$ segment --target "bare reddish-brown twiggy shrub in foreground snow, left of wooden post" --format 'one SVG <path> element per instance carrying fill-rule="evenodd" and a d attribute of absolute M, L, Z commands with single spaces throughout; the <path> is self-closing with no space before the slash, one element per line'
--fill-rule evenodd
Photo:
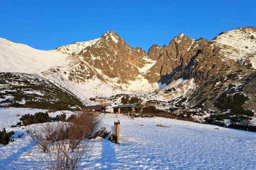
<path fill-rule="evenodd" d="M 49 153 L 48 169 L 75 170 L 86 167 L 95 142 L 91 140 L 89 145 L 88 137 L 101 120 L 102 116 L 79 112 L 70 122 L 44 123 L 26 129 L 32 140 Z"/>

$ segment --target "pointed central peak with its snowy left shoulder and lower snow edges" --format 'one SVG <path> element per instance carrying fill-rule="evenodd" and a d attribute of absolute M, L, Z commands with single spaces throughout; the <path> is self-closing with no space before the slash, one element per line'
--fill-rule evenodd
<path fill-rule="evenodd" d="M 115 84 L 118 88 L 129 88 L 136 82 L 146 82 L 142 74 L 154 63 L 147 58 L 141 47 L 134 49 L 114 31 L 108 31 L 98 39 L 74 42 L 55 50 L 72 55 L 80 63 L 78 69 L 82 72 L 78 69 L 72 71 L 70 80 L 84 83 L 85 79 L 92 79 L 95 76 L 103 82 Z M 85 67 L 88 66 L 91 69 L 86 70 L 87 74 L 84 77 L 81 73 L 84 73 Z M 98 74 L 95 74 L 95 70 Z M 146 82 L 145 85 L 149 83 Z M 154 89 L 157 89 L 157 85 Z"/>

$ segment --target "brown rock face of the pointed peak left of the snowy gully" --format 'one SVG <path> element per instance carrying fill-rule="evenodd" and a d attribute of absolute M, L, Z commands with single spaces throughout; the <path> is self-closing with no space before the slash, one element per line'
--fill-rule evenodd
<path fill-rule="evenodd" d="M 110 78 L 118 78 L 123 83 L 134 80 L 146 61 L 146 52 L 133 49 L 114 31 L 104 33 L 99 40 L 80 52 L 84 60 Z M 122 83 L 122 82 L 121 82 Z"/>

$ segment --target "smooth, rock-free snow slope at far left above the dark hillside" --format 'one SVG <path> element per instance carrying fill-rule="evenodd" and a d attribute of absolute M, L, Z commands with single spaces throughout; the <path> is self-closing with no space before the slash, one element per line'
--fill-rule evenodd
<path fill-rule="evenodd" d="M 51 67 L 67 65 L 67 57 L 68 55 L 60 52 L 37 50 L 25 44 L 0 38 L 0 72 L 40 74 Z"/>

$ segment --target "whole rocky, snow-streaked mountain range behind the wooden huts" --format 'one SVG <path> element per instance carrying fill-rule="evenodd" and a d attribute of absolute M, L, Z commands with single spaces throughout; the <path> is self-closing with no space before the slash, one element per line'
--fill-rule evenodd
<path fill-rule="evenodd" d="M 255 36 L 255 27 L 225 31 L 211 41 L 181 33 L 147 53 L 114 31 L 46 51 L 1 38 L 0 72 L 37 74 L 83 104 L 103 102 L 111 109 L 130 103 L 143 113 L 256 124 Z"/>

